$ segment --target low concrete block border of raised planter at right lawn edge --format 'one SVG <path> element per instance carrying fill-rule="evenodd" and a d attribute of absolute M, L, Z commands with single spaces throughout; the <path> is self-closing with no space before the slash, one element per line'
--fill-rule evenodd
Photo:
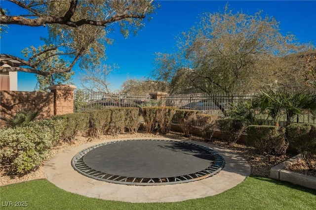
<path fill-rule="evenodd" d="M 297 184 L 311 189 L 316 189 L 315 177 L 285 170 L 286 166 L 297 163 L 299 159 L 301 159 L 301 154 L 298 154 L 271 168 L 270 178 L 275 180 L 288 181 L 293 184 Z"/>

